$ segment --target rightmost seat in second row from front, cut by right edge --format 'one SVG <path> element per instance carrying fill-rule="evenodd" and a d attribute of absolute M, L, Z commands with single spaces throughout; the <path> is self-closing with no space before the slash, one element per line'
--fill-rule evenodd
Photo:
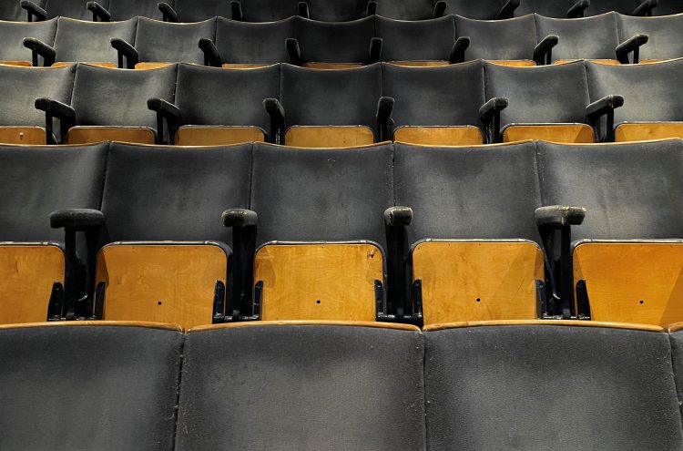
<path fill-rule="evenodd" d="M 683 315 L 681 142 L 538 143 L 538 168 L 551 219 L 562 220 L 561 209 L 553 209 L 554 205 L 586 209 L 583 224 L 565 228 L 561 255 L 550 257 L 573 255 L 573 277 L 569 265 L 562 277 L 565 287 L 576 289 L 578 315 L 622 323 L 679 322 Z M 571 248 L 569 237 L 575 240 Z"/>

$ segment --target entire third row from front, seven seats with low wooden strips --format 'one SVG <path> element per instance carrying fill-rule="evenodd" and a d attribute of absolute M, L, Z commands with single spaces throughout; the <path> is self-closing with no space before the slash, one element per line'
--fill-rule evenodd
<path fill-rule="evenodd" d="M 625 66 L 377 63 L 342 70 L 0 66 L 0 142 L 268 140 L 329 148 L 385 140 L 475 145 L 678 138 L 680 77 L 683 59 Z"/>

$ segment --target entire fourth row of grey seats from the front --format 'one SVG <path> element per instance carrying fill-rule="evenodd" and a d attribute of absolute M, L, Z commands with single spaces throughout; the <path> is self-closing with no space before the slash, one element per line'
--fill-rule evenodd
<path fill-rule="evenodd" d="M 158 67 L 183 62 L 259 67 L 289 62 L 319 68 L 387 61 L 436 66 L 474 59 L 534 66 L 573 59 L 612 64 L 683 56 L 683 15 L 608 13 L 563 20 L 525 15 L 483 21 L 448 15 L 420 22 L 372 16 L 325 23 L 301 17 L 250 24 L 209 19 L 172 24 L 144 17 L 93 23 L 60 17 L 40 23 L 0 22 L 0 61 L 22 66 L 97 63 Z"/>

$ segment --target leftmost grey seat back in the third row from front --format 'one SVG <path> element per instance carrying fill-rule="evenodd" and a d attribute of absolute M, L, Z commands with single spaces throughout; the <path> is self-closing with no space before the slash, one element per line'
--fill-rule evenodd
<path fill-rule="evenodd" d="M 36 98 L 50 97 L 68 104 L 75 72 L 76 65 L 45 69 L 0 66 L 0 126 L 45 127 L 45 113 L 34 106 Z"/>

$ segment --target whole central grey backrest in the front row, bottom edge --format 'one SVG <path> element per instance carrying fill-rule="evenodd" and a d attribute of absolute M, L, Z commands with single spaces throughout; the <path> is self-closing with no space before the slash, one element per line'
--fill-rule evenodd
<path fill-rule="evenodd" d="M 334 325 L 189 333 L 177 449 L 422 451 L 422 338 Z"/>

